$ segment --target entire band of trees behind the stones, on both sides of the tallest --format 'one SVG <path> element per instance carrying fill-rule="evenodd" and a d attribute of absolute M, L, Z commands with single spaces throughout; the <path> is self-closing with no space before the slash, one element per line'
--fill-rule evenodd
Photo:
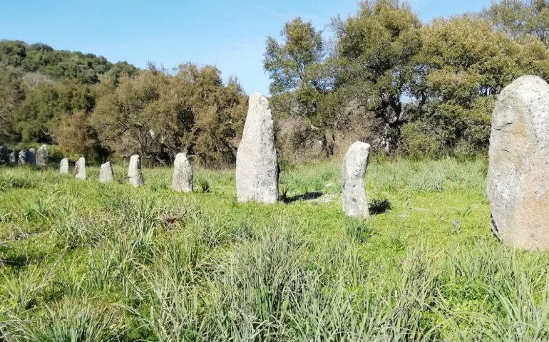
<path fill-rule="evenodd" d="M 524 74 L 549 80 L 549 0 L 427 24 L 404 1 L 371 0 L 329 31 L 297 18 L 267 38 L 282 159 L 339 155 L 356 140 L 388 154 L 477 155 L 496 95 Z M 246 107 L 237 80 L 214 66 L 140 70 L 0 41 L 0 143 L 55 143 L 96 160 L 139 153 L 150 164 L 185 151 L 231 165 Z"/>

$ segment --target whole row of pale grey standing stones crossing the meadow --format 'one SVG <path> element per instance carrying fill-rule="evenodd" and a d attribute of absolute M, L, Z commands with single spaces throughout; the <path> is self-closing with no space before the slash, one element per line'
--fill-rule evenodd
<path fill-rule="evenodd" d="M 349 217 L 369 217 L 364 176 L 370 146 L 354 142 L 342 165 L 342 206 Z M 519 249 L 549 249 L 549 85 L 537 76 L 522 76 L 503 89 L 492 115 L 487 194 L 493 234 Z M 16 158 L 16 156 L 18 158 Z M 0 162 L 48 163 L 46 145 L 18 152 L 0 146 Z M 61 160 L 62 174 L 68 159 Z M 86 179 L 86 160 L 75 165 L 77 178 Z M 279 167 L 275 125 L 270 103 L 260 93 L 250 95 L 242 140 L 237 150 L 238 202 L 277 202 Z M 101 165 L 100 182 L 112 182 L 111 162 Z M 139 155 L 130 157 L 128 182 L 144 184 Z M 193 191 L 193 170 L 183 153 L 175 157 L 172 187 Z"/>

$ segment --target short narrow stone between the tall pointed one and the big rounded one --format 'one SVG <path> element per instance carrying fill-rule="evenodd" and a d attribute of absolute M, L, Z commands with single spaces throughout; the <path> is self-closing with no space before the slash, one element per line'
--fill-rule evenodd
<path fill-rule="evenodd" d="M 370 145 L 357 141 L 349 147 L 343 160 L 342 204 L 343 211 L 350 217 L 370 216 L 364 187 L 369 153 Z"/>

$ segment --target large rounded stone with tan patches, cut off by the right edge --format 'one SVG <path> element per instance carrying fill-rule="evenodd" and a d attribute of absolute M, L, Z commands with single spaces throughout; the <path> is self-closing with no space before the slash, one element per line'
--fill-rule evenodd
<path fill-rule="evenodd" d="M 488 200 L 492 231 L 519 249 L 549 249 L 549 85 L 523 76 L 492 116 Z"/>

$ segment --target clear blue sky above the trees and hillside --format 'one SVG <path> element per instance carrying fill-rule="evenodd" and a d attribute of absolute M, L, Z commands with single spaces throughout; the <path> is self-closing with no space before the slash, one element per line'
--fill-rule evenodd
<path fill-rule="evenodd" d="M 326 28 L 337 14 L 358 9 L 356 0 L 4 0 L 0 39 L 46 43 L 96 53 L 110 61 L 165 68 L 188 61 L 214 64 L 224 78 L 237 76 L 250 93 L 268 93 L 262 69 L 267 36 L 279 37 L 295 16 Z M 422 21 L 478 11 L 491 0 L 410 0 Z"/>

